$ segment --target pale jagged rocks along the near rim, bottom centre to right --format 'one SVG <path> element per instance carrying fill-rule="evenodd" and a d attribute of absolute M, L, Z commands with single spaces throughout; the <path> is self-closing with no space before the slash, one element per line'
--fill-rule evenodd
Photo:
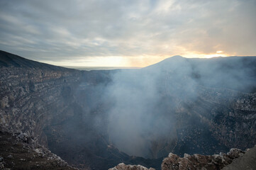
<path fill-rule="evenodd" d="M 162 162 L 162 170 L 239 170 L 239 169 L 256 169 L 256 146 L 252 149 L 242 151 L 241 149 L 232 148 L 227 154 L 184 154 L 184 157 L 179 157 L 177 154 L 169 153 Z M 148 169 L 141 165 L 126 165 L 118 164 L 117 166 L 108 170 L 155 170 Z"/>

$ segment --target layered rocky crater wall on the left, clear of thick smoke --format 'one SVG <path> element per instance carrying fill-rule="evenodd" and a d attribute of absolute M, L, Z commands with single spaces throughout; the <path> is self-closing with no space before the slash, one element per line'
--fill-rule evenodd
<path fill-rule="evenodd" d="M 47 145 L 43 128 L 74 115 L 70 106 L 81 79 L 77 70 L 1 52 L 1 125 L 34 135 Z"/>

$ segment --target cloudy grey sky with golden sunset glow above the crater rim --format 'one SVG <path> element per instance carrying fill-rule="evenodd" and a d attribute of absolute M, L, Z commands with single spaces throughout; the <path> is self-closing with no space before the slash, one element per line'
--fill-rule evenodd
<path fill-rule="evenodd" d="M 0 50 L 61 66 L 256 55 L 256 0 L 0 0 Z"/>

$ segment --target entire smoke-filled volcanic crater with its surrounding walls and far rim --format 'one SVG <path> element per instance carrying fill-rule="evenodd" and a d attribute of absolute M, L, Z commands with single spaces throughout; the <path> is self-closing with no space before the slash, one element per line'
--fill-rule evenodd
<path fill-rule="evenodd" d="M 160 169 L 169 152 L 256 143 L 255 57 L 175 57 L 145 69 L 83 72 L 0 55 L 0 124 L 72 166 Z"/>

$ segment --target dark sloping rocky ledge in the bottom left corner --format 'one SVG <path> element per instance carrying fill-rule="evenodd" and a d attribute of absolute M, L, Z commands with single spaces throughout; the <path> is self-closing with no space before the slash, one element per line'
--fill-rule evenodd
<path fill-rule="evenodd" d="M 0 128 L 0 146 L 0 169 L 75 169 L 26 133 Z"/>

